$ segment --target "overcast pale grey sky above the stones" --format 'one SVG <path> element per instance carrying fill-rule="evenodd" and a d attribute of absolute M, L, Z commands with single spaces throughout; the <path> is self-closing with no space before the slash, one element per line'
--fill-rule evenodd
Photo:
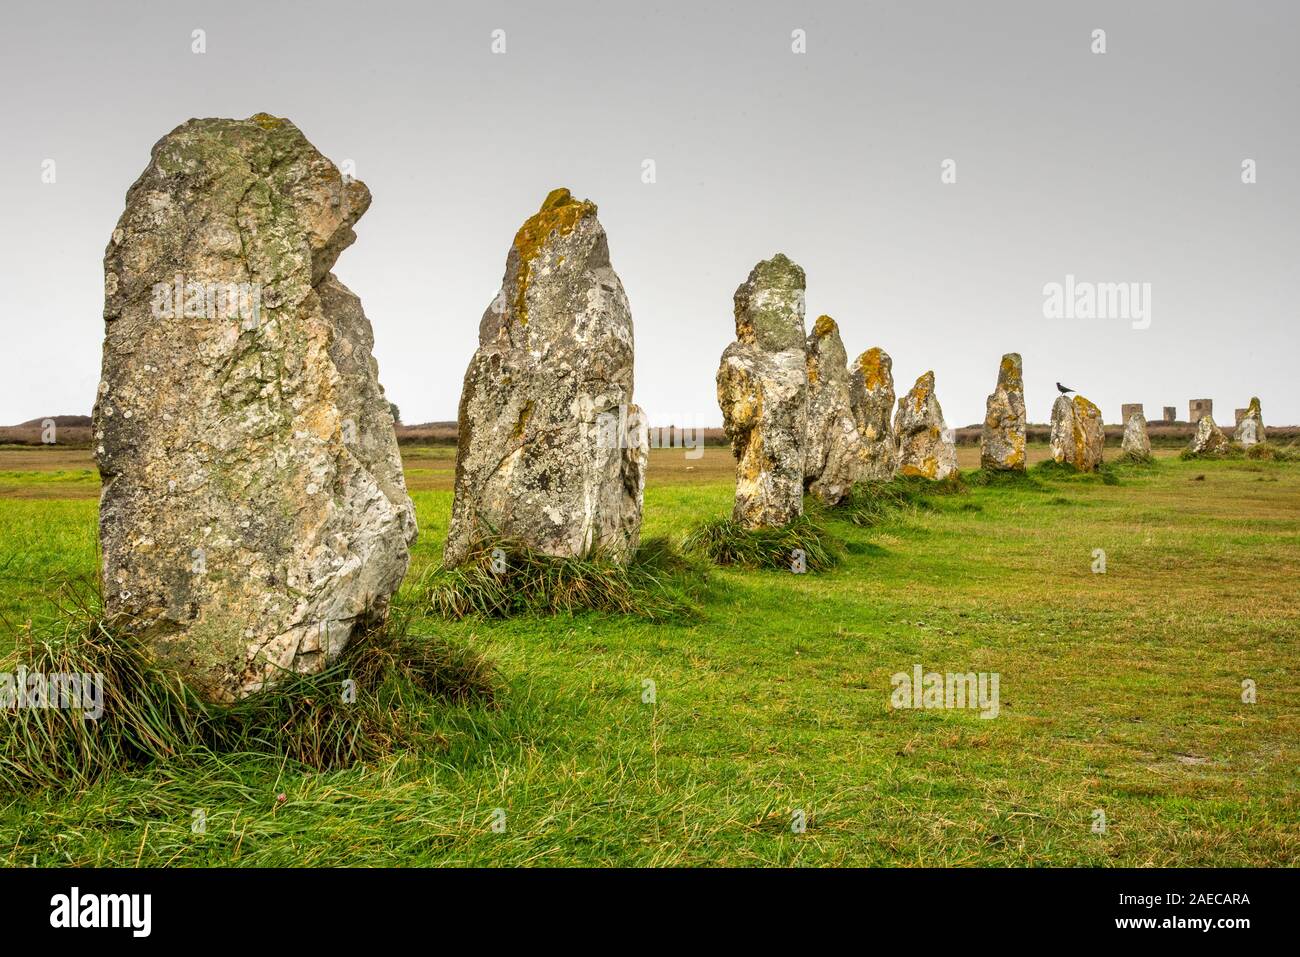
<path fill-rule="evenodd" d="M 777 251 L 807 272 L 810 325 L 833 316 L 850 356 L 885 348 L 900 394 L 933 369 L 950 425 L 983 419 L 1013 350 L 1032 421 L 1061 380 L 1109 423 L 1205 397 L 1231 424 L 1252 394 L 1300 423 L 1296 3 L 55 0 L 0 18 L 0 424 L 90 412 L 104 246 L 151 146 L 260 111 L 374 195 L 335 272 L 408 423 L 455 417 L 515 230 L 555 186 L 599 205 L 660 424 L 720 424 L 732 293 Z M 1067 274 L 1150 283 L 1149 328 L 1044 317 Z"/>

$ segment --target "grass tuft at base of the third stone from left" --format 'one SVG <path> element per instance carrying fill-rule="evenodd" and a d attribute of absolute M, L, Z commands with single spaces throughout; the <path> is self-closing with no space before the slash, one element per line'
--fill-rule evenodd
<path fill-rule="evenodd" d="M 803 568 L 820 572 L 833 568 L 844 555 L 844 544 L 807 515 L 780 528 L 745 528 L 731 519 L 715 519 L 696 527 L 682 542 L 688 553 L 737 568 L 793 570 L 797 553 Z"/>

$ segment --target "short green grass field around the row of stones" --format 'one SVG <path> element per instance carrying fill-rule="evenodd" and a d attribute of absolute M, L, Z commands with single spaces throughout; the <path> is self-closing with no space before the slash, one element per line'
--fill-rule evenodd
<path fill-rule="evenodd" d="M 98 486 L 75 456 L 5 455 L 0 616 L 39 631 L 60 583 L 95 577 Z M 450 450 L 407 464 L 413 583 L 441 553 Z M 0 793 L 0 862 L 1295 865 L 1300 465 L 1037 475 L 870 528 L 829 519 L 837 568 L 718 570 L 688 620 L 416 619 L 498 672 L 494 705 L 419 715 L 438 746 Z M 656 451 L 644 536 L 680 538 L 731 495 L 725 451 Z M 892 710 L 890 675 L 918 663 L 997 672 L 998 716 Z"/>

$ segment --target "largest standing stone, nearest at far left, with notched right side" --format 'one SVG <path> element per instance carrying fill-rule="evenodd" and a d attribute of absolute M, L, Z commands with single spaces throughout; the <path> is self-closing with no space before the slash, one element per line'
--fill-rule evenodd
<path fill-rule="evenodd" d="M 406 575 L 373 334 L 330 273 L 369 204 L 287 120 L 191 120 L 104 255 L 105 610 L 211 701 L 320 671 Z"/>

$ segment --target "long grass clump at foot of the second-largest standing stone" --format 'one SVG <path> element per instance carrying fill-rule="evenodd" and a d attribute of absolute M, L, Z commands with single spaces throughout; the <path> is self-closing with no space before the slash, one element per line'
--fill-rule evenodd
<path fill-rule="evenodd" d="M 558 558 L 498 540 L 480 542 L 459 566 L 428 571 L 410 601 L 450 620 L 603 611 L 663 622 L 694 612 L 705 576 L 667 540 L 645 542 L 628 563 Z"/>

